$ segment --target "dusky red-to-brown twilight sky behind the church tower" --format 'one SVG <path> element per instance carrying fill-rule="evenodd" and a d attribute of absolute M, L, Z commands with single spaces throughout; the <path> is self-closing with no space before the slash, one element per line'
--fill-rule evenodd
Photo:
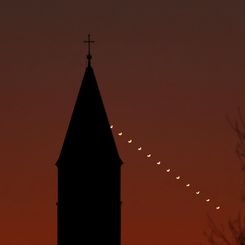
<path fill-rule="evenodd" d="M 3 2 L 0 244 L 56 244 L 54 164 L 89 32 L 108 117 L 125 131 L 123 245 L 199 244 L 207 213 L 218 224 L 234 217 L 242 175 L 225 116 L 245 114 L 244 11 L 238 0 Z"/>

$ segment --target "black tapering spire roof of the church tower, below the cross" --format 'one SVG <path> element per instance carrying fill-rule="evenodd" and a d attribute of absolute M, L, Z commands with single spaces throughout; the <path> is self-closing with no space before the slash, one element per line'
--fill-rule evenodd
<path fill-rule="evenodd" d="M 121 163 L 110 124 L 91 66 L 92 56 L 87 56 L 88 65 L 82 80 L 80 91 L 69 123 L 64 144 L 57 161 L 78 162 L 87 158 L 94 158 L 94 154 L 101 159 L 117 158 Z M 104 160 L 105 160 L 104 159 Z"/>

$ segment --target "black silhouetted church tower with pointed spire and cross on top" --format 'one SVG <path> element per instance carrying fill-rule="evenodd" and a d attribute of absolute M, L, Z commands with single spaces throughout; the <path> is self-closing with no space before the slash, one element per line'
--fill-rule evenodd
<path fill-rule="evenodd" d="M 120 167 L 100 91 L 88 66 L 58 167 L 58 245 L 120 245 Z"/>

